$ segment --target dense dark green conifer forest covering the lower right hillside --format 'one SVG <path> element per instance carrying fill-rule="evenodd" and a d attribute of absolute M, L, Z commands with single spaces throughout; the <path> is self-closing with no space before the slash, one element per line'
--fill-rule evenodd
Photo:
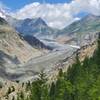
<path fill-rule="evenodd" d="M 19 93 L 17 100 L 100 100 L 100 40 L 93 57 L 83 62 L 76 56 L 76 63 L 63 73 L 50 86 L 46 84 L 45 73 L 32 84 L 27 83 L 26 91 L 30 95 Z"/>

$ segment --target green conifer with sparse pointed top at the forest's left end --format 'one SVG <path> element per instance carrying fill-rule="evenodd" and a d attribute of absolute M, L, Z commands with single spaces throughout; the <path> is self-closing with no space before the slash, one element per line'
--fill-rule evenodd
<path fill-rule="evenodd" d="M 42 71 L 39 74 L 39 78 L 32 83 L 30 100 L 49 100 L 49 93 L 46 82 L 46 75 Z"/>

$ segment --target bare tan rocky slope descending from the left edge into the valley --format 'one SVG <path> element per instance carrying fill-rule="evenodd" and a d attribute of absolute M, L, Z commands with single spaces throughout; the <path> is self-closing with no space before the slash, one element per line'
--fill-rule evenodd
<path fill-rule="evenodd" d="M 15 57 L 20 63 L 37 57 L 41 52 L 32 48 L 7 22 L 0 18 L 0 50 L 5 54 Z"/>

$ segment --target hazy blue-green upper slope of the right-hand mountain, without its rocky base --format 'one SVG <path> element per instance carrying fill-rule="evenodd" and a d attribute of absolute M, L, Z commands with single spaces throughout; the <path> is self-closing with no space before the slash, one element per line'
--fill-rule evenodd
<path fill-rule="evenodd" d="M 73 22 L 71 25 L 65 27 L 58 34 L 74 35 L 74 33 L 86 34 L 99 31 L 100 31 L 100 16 L 87 15 L 83 19 Z"/>

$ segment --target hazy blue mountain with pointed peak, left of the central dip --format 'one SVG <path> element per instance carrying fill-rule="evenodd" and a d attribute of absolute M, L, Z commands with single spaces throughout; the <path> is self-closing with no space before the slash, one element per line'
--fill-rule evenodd
<path fill-rule="evenodd" d="M 17 20 L 8 18 L 8 22 L 23 35 L 32 35 L 38 39 L 52 39 L 56 36 L 57 29 L 49 27 L 42 18 Z"/>

